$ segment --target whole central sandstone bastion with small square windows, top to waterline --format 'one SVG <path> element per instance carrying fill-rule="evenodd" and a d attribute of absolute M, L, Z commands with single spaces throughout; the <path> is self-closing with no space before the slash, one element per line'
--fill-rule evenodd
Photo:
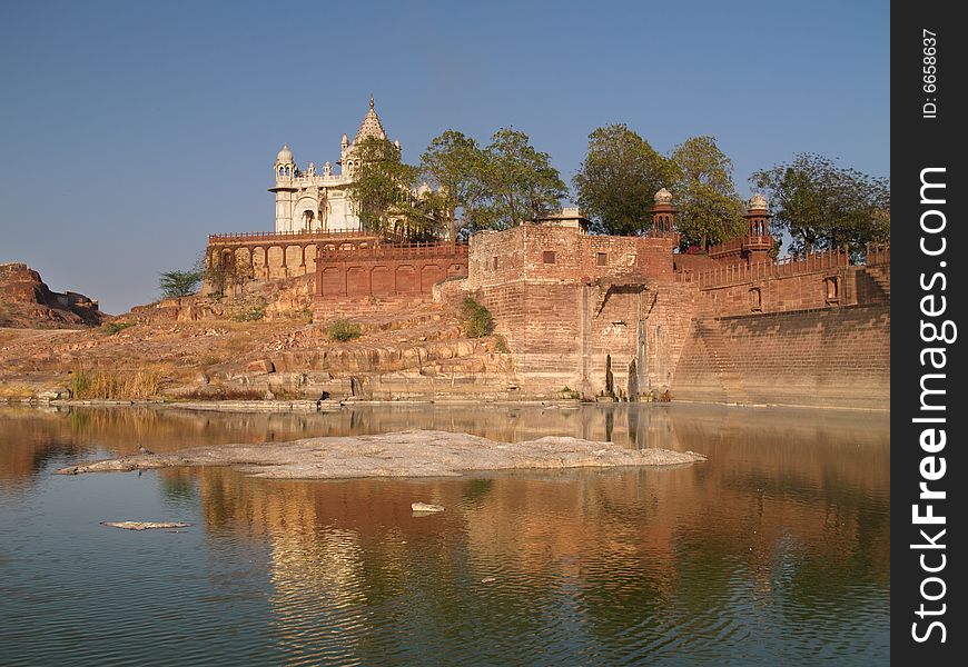
<path fill-rule="evenodd" d="M 525 394 L 624 396 L 669 386 L 693 289 L 672 281 L 674 233 L 590 236 L 522 225 L 471 239 L 464 289 L 494 315 Z M 660 289 L 660 286 L 665 286 Z"/>

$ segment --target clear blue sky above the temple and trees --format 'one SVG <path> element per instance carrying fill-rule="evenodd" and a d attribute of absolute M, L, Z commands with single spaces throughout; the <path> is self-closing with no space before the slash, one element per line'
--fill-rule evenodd
<path fill-rule="evenodd" d="M 274 228 L 276 152 L 339 157 L 369 94 L 404 159 L 523 130 L 571 181 L 596 127 L 713 135 L 749 175 L 888 176 L 888 2 L 6 2 L 0 262 L 108 312 L 209 232 Z"/>

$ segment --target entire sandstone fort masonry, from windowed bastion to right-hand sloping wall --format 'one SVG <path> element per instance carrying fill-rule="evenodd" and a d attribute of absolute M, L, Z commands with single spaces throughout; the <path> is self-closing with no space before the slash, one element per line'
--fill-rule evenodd
<path fill-rule="evenodd" d="M 527 395 L 887 407 L 888 249 L 861 266 L 833 250 L 676 272 L 676 240 L 658 225 L 477 233 L 468 278 L 437 292 L 492 311 Z"/>

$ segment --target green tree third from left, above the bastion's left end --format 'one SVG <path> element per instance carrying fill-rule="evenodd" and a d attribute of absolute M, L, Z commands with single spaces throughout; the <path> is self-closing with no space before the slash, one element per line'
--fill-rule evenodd
<path fill-rule="evenodd" d="M 556 209 L 567 187 L 551 157 L 531 146 L 527 135 L 502 128 L 494 132 L 481 165 L 482 202 L 476 228 L 507 229 Z"/>

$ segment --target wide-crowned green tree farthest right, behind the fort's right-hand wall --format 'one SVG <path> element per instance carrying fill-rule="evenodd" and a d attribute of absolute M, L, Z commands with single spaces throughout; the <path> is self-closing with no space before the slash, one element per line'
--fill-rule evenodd
<path fill-rule="evenodd" d="M 769 197 L 774 233 L 791 237 L 789 250 L 803 252 L 849 246 L 859 253 L 890 238 L 890 181 L 838 167 L 816 153 L 755 171 L 750 182 Z"/>

